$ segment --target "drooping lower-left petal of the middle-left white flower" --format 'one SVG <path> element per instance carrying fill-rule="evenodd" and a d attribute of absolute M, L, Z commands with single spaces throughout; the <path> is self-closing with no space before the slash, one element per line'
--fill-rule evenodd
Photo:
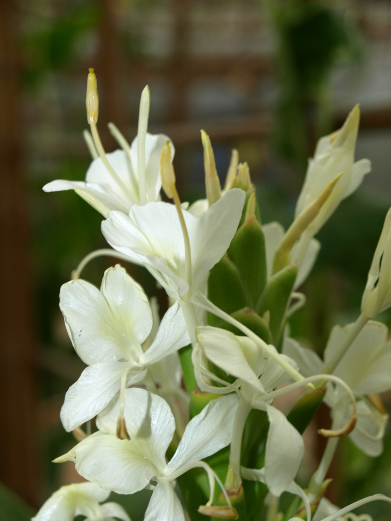
<path fill-rule="evenodd" d="M 129 362 L 103 362 L 86 367 L 80 378 L 65 394 L 60 418 L 66 431 L 76 429 L 85 421 L 103 411 L 119 392 L 120 378 Z M 146 369 L 133 367 L 127 377 L 127 385 L 141 381 Z"/>

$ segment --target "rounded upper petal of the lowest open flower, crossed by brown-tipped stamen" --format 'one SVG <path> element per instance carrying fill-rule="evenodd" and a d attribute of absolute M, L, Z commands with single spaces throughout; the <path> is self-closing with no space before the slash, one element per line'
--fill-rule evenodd
<path fill-rule="evenodd" d="M 118 414 L 117 400 L 97 417 L 97 427 L 114 434 Z M 130 441 L 140 445 L 144 455 L 157 469 L 164 469 L 165 453 L 175 431 L 174 416 L 168 404 L 160 396 L 151 394 L 145 389 L 126 389 L 124 416 Z"/>

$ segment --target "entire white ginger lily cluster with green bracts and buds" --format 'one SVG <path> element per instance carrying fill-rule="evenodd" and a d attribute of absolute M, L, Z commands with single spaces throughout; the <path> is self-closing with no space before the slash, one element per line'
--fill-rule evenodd
<path fill-rule="evenodd" d="M 185 521 L 199 516 L 197 510 L 222 519 L 251 521 L 264 511 L 270 520 L 304 515 L 310 521 L 317 505 L 314 519 L 332 521 L 347 519 L 368 501 L 391 501 L 377 494 L 341 510 L 321 501 L 340 436 L 349 435 L 367 454 L 382 451 L 388 416 L 378 393 L 391 389 L 391 344 L 387 328 L 373 319 L 391 305 L 390 213 L 362 314 L 354 324 L 333 328 L 324 359 L 289 338 L 286 327 L 305 302 L 296 289 L 319 251 L 314 235 L 370 171 L 368 160 L 354 162 L 358 107 L 317 145 L 287 231 L 276 222 L 261 225 L 248 166 L 238 163 L 236 151 L 221 189 L 203 131 L 206 199 L 181 203 L 174 146 L 165 135 L 147 133 L 148 87 L 132 144 L 110 126 L 122 150 L 105 154 L 98 112 L 90 70 L 91 134 L 85 137 L 93 162 L 85 182 L 57 180 L 44 187 L 74 189 L 97 209 L 114 249 L 86 257 L 60 290 L 69 338 L 87 367 L 60 414 L 79 443 L 55 462 L 73 461 L 88 481 L 60 488 L 33 519 L 129 521 L 121 506 L 100 503 L 109 491 L 142 489 L 153 491 L 144 521 Z M 161 188 L 173 204 L 161 200 Z M 84 265 L 101 254 L 151 272 L 172 304 L 161 320 L 156 302 L 119 264 L 106 270 L 100 289 L 80 279 Z M 306 392 L 285 416 L 273 399 L 298 387 Z M 304 491 L 294 481 L 304 453 L 301 435 L 323 399 L 333 426 L 321 429 L 326 450 Z M 82 426 L 91 420 L 96 429 L 87 435 Z M 262 487 L 268 491 L 264 502 Z M 254 490 L 261 499 L 254 499 Z M 296 498 L 282 514 L 284 492 Z M 205 504 L 194 506 L 199 497 Z"/>

